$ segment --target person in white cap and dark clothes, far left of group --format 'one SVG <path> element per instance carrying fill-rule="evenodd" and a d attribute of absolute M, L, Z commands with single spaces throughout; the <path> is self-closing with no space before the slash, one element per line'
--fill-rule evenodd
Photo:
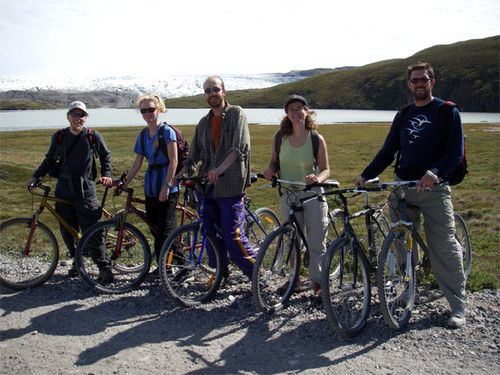
<path fill-rule="evenodd" d="M 99 132 L 84 127 L 88 118 L 85 103 L 81 101 L 70 103 L 66 117 L 69 127 L 54 133 L 45 159 L 27 181 L 27 186 L 47 173 L 56 177 L 55 196 L 70 203 L 56 203 L 56 211 L 71 226 L 85 231 L 102 215 L 95 190 L 94 179 L 97 177 L 95 176 L 97 171 L 94 158 L 97 157 L 100 160 L 100 182 L 109 186 L 112 183 L 110 151 Z M 56 164 L 59 168 L 57 172 L 54 172 Z M 60 230 L 69 255 L 74 258 L 74 238 L 62 226 Z M 96 254 L 92 254 L 92 257 L 99 267 L 102 280 L 111 282 L 113 274 L 110 263 L 106 259 L 104 247 L 96 250 Z M 78 276 L 74 263 L 68 276 Z"/>

